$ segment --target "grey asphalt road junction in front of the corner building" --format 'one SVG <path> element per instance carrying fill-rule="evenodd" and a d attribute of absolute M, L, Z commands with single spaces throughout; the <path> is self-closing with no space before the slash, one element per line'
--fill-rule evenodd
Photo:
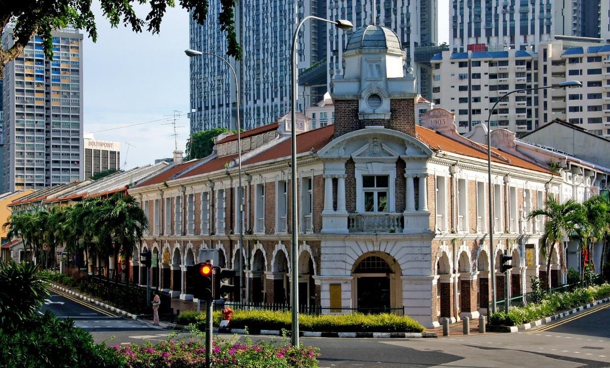
<path fill-rule="evenodd" d="M 63 303 L 63 304 L 62 304 Z M 438 339 L 332 339 L 303 337 L 320 348 L 320 367 L 610 367 L 610 304 L 587 310 L 538 330 L 472 334 Z M 98 306 L 53 293 L 45 309 L 70 317 L 96 342 L 160 342 L 172 331 L 124 319 Z M 188 337 L 178 333 L 174 339 Z M 225 339 L 243 336 L 220 334 Z M 251 336 L 253 341 L 281 337 Z"/>

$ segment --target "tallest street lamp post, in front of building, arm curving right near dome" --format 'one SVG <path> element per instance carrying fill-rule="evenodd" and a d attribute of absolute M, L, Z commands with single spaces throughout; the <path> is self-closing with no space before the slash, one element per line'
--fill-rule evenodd
<path fill-rule="evenodd" d="M 303 18 L 297 24 L 295 28 L 295 34 L 292 37 L 292 52 L 290 53 L 290 82 L 292 83 L 292 88 L 290 88 L 290 121 L 292 123 L 292 127 L 290 128 L 290 142 L 292 143 L 292 161 L 290 166 L 292 167 L 292 281 L 290 286 L 292 287 L 292 345 L 299 345 L 299 287 L 298 287 L 298 226 L 296 221 L 296 95 L 298 88 L 298 81 L 296 79 L 298 67 L 296 65 L 296 46 L 298 43 L 296 42 L 299 35 L 299 30 L 301 26 L 305 23 L 306 20 L 314 19 L 323 21 L 326 23 L 334 24 L 337 28 L 343 29 L 343 31 L 349 31 L 354 26 L 348 20 L 338 20 L 331 21 L 325 18 L 319 18 L 318 16 L 309 15 Z"/>

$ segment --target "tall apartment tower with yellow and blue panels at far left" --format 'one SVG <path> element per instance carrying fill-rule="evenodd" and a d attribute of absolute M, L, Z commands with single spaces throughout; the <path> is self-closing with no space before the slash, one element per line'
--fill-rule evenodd
<path fill-rule="evenodd" d="M 40 189 L 82 177 L 82 40 L 52 33 L 53 60 L 35 36 L 4 69 L 4 192 Z M 13 45 L 12 29 L 2 45 Z"/>

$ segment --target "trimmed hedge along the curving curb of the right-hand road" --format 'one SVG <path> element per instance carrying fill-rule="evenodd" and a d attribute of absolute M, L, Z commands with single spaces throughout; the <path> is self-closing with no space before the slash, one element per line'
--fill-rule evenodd
<path fill-rule="evenodd" d="M 511 307 L 508 313 L 495 312 L 489 316 L 489 324 L 495 326 L 519 326 L 524 323 L 553 316 L 558 312 L 600 300 L 610 295 L 610 284 L 589 286 L 572 292 L 545 295 L 542 303 L 529 303 L 525 307 Z"/>

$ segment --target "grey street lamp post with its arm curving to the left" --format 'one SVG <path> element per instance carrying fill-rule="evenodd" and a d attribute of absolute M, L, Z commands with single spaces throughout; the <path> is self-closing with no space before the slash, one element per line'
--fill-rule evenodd
<path fill-rule="evenodd" d="M 237 108 L 237 161 L 238 161 L 238 169 L 237 169 L 237 177 L 238 177 L 238 190 L 237 190 L 237 203 L 239 203 L 239 211 L 237 211 L 237 233 L 239 234 L 239 246 L 240 246 L 240 259 L 239 262 L 239 301 L 243 303 L 243 262 L 245 261 L 243 257 L 243 187 L 242 187 L 242 135 L 240 130 L 242 129 L 242 124 L 240 124 L 239 119 L 239 82 L 237 81 L 237 73 L 235 73 L 235 68 L 231 63 L 229 63 L 224 57 L 218 56 L 216 54 L 211 54 L 210 52 L 201 52 L 193 49 L 186 49 L 184 53 L 189 57 L 199 56 L 199 55 L 209 55 L 216 57 L 220 60 L 223 60 L 226 65 L 229 65 L 231 72 L 233 73 L 233 77 L 235 78 L 235 107 Z"/>

